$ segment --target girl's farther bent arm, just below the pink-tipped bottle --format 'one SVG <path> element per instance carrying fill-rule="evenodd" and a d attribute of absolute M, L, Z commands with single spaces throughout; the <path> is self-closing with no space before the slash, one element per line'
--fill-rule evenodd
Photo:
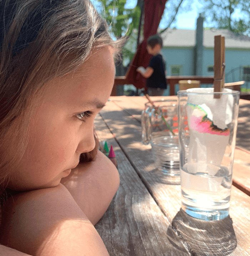
<path fill-rule="evenodd" d="M 96 224 L 109 207 L 120 178 L 109 158 L 97 151 L 95 161 L 80 163 L 61 183 L 91 223 Z"/>

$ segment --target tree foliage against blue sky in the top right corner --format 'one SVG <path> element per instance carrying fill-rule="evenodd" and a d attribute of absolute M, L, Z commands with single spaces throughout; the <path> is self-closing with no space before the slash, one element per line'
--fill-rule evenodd
<path fill-rule="evenodd" d="M 200 11 L 214 28 L 250 36 L 249 0 L 202 0 Z M 238 16 L 238 17 L 237 17 Z"/>

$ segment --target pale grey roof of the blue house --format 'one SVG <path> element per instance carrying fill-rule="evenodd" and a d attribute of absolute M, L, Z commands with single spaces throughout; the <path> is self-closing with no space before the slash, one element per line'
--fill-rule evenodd
<path fill-rule="evenodd" d="M 214 36 L 225 37 L 225 48 L 249 48 L 250 37 L 241 34 L 234 34 L 228 29 L 204 29 L 203 46 L 214 47 Z M 194 47 L 196 30 L 188 29 L 167 29 L 161 34 L 163 47 Z"/>

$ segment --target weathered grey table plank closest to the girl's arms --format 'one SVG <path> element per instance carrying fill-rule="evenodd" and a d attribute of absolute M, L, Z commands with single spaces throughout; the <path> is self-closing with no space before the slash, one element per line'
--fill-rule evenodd
<path fill-rule="evenodd" d="M 112 144 L 120 174 L 120 187 L 95 226 L 110 256 L 189 255 L 100 116 L 95 129 Z"/>

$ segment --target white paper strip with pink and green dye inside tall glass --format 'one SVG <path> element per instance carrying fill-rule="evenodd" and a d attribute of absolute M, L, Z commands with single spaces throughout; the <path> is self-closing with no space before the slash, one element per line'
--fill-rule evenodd
<path fill-rule="evenodd" d="M 188 172 L 192 174 L 205 172 L 215 176 L 220 169 L 229 142 L 228 124 L 232 121 L 233 95 L 222 94 L 221 98 L 215 99 L 213 91 L 214 88 L 187 90 L 189 93 L 211 93 L 189 94 L 187 98 L 190 134 L 187 166 Z M 230 92 L 231 90 L 224 89 L 223 91 Z M 217 183 L 209 180 L 206 186 L 209 186 L 212 191 L 217 191 L 220 182 Z"/>

